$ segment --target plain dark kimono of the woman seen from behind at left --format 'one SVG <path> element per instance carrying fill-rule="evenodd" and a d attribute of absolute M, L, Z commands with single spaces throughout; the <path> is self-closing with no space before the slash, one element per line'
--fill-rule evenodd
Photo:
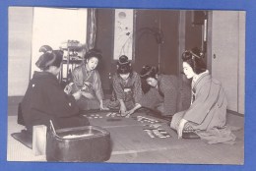
<path fill-rule="evenodd" d="M 49 127 L 52 120 L 56 129 L 89 125 L 87 118 L 79 116 L 79 108 L 72 95 L 67 95 L 57 78 L 48 72 L 34 72 L 21 103 L 25 126 Z"/>

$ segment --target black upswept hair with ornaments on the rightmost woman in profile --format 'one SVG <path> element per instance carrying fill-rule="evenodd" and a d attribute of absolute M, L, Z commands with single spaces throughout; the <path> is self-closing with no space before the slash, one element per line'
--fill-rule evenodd
<path fill-rule="evenodd" d="M 182 53 L 183 62 L 188 63 L 196 74 L 203 73 L 207 70 L 203 58 L 204 54 L 198 47 L 194 47 Z"/>

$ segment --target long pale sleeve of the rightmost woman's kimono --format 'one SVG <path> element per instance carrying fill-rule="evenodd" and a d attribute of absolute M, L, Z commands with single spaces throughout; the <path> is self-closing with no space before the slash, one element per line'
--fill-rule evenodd
<path fill-rule="evenodd" d="M 219 90 L 219 86 L 214 86 L 211 82 L 202 85 L 196 93 L 194 102 L 186 111 L 184 119 L 201 124 L 217 101 Z"/>

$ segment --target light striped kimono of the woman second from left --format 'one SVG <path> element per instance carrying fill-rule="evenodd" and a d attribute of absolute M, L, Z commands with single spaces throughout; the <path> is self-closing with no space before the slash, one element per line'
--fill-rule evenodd
<path fill-rule="evenodd" d="M 103 90 L 98 72 L 96 70 L 90 72 L 87 71 L 85 64 L 83 63 L 73 70 L 72 81 L 74 82 L 72 92 L 76 92 L 82 87 L 86 87 L 83 90 L 90 92 L 95 97 L 93 99 L 88 99 L 82 95 L 77 101 L 79 108 L 81 110 L 99 109 L 99 101 L 103 99 Z"/>

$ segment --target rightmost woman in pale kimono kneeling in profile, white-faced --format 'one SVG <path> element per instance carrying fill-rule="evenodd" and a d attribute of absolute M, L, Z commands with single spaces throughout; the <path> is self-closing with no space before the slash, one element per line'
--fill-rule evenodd
<path fill-rule="evenodd" d="M 183 71 L 192 79 L 192 98 L 188 110 L 176 113 L 170 127 L 182 133 L 193 132 L 210 142 L 234 141 L 235 137 L 225 129 L 227 101 L 222 84 L 206 70 L 200 49 L 193 48 L 182 54 Z"/>

